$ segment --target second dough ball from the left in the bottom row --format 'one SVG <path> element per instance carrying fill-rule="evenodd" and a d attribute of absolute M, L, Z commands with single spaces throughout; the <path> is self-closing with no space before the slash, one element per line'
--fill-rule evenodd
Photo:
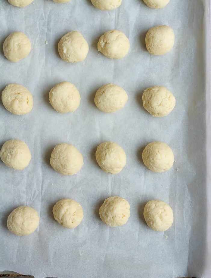
<path fill-rule="evenodd" d="M 83 219 L 82 206 L 71 199 L 59 200 L 53 208 L 54 218 L 66 228 L 77 227 Z"/>

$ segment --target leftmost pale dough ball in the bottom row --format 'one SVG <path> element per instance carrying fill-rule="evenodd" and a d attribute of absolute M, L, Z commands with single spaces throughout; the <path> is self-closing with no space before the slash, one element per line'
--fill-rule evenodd
<path fill-rule="evenodd" d="M 15 208 L 7 218 L 8 229 L 17 236 L 33 233 L 39 225 L 37 211 L 26 205 Z"/>

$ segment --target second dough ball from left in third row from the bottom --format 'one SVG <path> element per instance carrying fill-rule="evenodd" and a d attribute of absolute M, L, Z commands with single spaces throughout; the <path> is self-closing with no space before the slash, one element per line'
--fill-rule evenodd
<path fill-rule="evenodd" d="M 81 97 L 78 89 L 70 82 L 61 82 L 49 93 L 51 105 L 57 112 L 74 112 L 80 104 Z"/>

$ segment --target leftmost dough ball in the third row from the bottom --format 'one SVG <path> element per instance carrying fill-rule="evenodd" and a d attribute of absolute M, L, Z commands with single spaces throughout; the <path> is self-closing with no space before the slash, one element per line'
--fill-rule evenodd
<path fill-rule="evenodd" d="M 4 107 L 15 115 L 29 113 L 33 108 L 33 96 L 24 86 L 10 84 L 2 92 Z"/>

